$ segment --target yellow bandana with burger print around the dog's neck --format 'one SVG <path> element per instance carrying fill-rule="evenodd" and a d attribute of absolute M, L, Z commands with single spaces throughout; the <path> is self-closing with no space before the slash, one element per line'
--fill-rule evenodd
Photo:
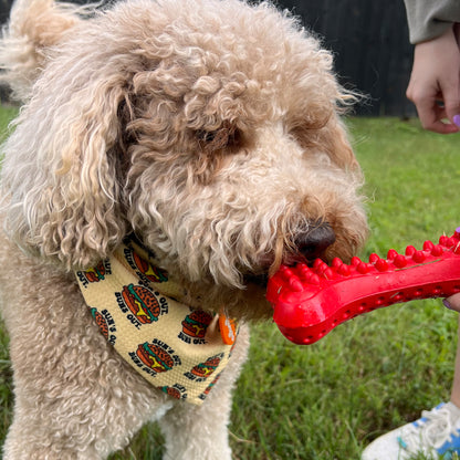
<path fill-rule="evenodd" d="M 75 274 L 101 332 L 123 358 L 168 395 L 201 404 L 231 356 L 234 324 L 175 300 L 180 286 L 134 239 Z"/>

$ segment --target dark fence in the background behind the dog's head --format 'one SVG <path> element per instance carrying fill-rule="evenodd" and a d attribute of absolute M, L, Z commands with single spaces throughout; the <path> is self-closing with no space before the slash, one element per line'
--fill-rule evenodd
<path fill-rule="evenodd" d="M 85 0 L 73 0 L 84 3 Z M 276 1 L 276 0 L 274 0 Z M 341 82 L 367 95 L 358 115 L 410 116 L 405 96 L 412 46 L 402 0 L 278 0 L 302 17 L 305 27 L 323 38 L 335 54 Z M 0 0 L 4 22 L 11 0 Z"/>

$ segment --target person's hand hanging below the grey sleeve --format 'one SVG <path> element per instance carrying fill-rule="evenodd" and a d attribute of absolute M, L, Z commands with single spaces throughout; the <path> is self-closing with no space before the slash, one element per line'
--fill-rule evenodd
<path fill-rule="evenodd" d="M 416 45 L 406 95 L 416 105 L 425 129 L 460 130 L 460 50 L 453 27 Z"/>

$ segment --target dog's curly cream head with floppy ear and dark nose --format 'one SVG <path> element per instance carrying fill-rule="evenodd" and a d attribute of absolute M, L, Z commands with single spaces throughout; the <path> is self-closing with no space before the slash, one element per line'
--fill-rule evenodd
<path fill-rule="evenodd" d="M 133 0 L 48 53 L 2 170 L 8 231 L 32 253 L 85 268 L 135 231 L 170 273 L 234 295 L 363 243 L 349 95 L 288 14 Z"/>

